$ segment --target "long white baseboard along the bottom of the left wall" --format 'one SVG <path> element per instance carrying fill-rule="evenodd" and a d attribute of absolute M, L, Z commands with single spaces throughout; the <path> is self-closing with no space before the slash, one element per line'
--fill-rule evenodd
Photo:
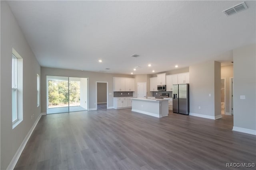
<path fill-rule="evenodd" d="M 13 170 L 14 167 L 16 166 L 19 158 L 20 158 L 20 155 L 22 154 L 22 151 L 23 149 L 25 148 L 27 142 L 28 142 L 28 139 L 30 138 L 32 132 L 34 131 L 38 121 L 40 120 L 42 116 L 42 113 L 38 116 L 38 118 L 36 119 L 34 125 L 31 127 L 30 131 L 28 132 L 28 134 L 26 135 L 26 137 L 24 138 L 24 140 L 22 141 L 20 147 L 18 148 L 17 152 L 15 153 L 15 155 L 13 156 L 10 164 L 8 165 L 8 167 L 6 168 L 7 170 Z"/>

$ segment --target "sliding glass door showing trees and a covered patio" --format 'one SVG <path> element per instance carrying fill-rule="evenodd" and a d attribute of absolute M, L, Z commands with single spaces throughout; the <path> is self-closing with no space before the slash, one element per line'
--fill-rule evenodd
<path fill-rule="evenodd" d="M 47 114 L 88 109 L 88 79 L 47 76 Z"/>

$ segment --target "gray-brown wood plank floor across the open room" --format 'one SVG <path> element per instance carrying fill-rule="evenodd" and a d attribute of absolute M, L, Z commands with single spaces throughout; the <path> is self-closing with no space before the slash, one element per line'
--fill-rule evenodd
<path fill-rule="evenodd" d="M 156 118 L 99 107 L 45 115 L 15 169 L 209 170 L 256 163 L 256 137 L 232 131 L 232 122 L 228 115 L 211 120 L 170 112 Z"/>

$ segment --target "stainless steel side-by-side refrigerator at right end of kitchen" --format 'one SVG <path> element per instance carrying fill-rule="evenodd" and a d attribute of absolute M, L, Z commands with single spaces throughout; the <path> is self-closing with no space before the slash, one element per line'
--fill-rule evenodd
<path fill-rule="evenodd" d="M 189 84 L 174 84 L 172 90 L 173 113 L 189 114 Z"/>

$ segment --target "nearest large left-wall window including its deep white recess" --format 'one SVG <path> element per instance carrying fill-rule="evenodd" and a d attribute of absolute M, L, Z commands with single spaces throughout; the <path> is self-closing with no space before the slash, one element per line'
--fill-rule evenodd
<path fill-rule="evenodd" d="M 23 59 L 12 49 L 12 129 L 23 120 Z"/>

